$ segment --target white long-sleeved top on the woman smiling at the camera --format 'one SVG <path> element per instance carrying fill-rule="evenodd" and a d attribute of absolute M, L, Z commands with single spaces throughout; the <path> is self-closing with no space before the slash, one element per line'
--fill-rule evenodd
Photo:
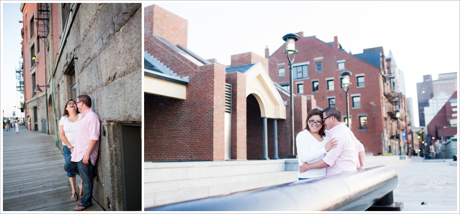
<path fill-rule="evenodd" d="M 328 130 L 326 130 L 326 136 L 323 137 L 322 142 L 316 140 L 307 129 L 299 132 L 295 138 L 299 166 L 304 162 L 314 163 L 323 159 L 326 155 L 324 146 L 328 141 Z M 326 168 L 309 169 L 303 173 L 298 172 L 298 178 L 317 178 L 322 176 L 326 176 Z"/>

